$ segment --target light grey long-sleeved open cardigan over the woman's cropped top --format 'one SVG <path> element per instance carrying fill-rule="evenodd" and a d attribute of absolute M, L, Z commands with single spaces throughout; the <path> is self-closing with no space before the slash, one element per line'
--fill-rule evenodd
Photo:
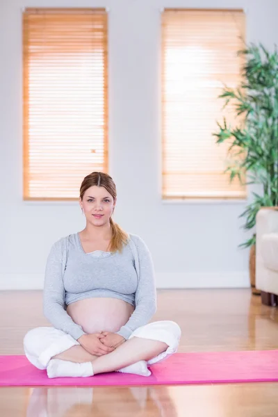
<path fill-rule="evenodd" d="M 129 234 L 129 247 L 134 257 L 138 289 L 135 293 L 135 310 L 126 325 L 117 332 L 128 339 L 134 330 L 146 325 L 156 312 L 156 287 L 154 281 L 154 265 L 145 242 L 137 235 Z M 76 340 L 85 332 L 65 311 L 65 287 L 63 276 L 67 265 L 69 236 L 60 238 L 51 247 L 47 258 L 44 277 L 44 316 L 56 329 L 70 334 Z"/>

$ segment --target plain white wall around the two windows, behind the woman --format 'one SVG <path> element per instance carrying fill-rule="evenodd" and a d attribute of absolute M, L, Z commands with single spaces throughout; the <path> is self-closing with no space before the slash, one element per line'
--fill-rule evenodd
<path fill-rule="evenodd" d="M 115 220 L 152 251 L 158 288 L 244 287 L 244 202 L 160 197 L 160 10 L 245 8 L 247 39 L 277 40 L 275 0 L 1 0 L 0 289 L 42 288 L 50 246 L 84 227 L 78 203 L 22 201 L 22 8 L 109 8 L 110 171 Z"/>

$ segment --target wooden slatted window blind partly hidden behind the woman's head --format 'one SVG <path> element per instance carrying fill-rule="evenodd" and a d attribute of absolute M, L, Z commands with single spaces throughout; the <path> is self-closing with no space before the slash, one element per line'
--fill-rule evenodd
<path fill-rule="evenodd" d="M 104 9 L 24 10 L 24 199 L 78 199 L 108 172 L 107 36 Z"/>

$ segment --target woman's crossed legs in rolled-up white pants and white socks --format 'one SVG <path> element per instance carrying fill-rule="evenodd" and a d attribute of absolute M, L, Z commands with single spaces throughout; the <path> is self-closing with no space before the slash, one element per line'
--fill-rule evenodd
<path fill-rule="evenodd" d="M 72 336 L 51 327 L 39 327 L 26 334 L 24 350 L 33 365 L 47 369 L 49 377 L 86 377 L 112 371 L 148 376 L 151 373 L 147 365 L 177 352 L 180 336 L 177 323 L 152 322 L 136 329 L 113 352 L 97 357 Z"/>

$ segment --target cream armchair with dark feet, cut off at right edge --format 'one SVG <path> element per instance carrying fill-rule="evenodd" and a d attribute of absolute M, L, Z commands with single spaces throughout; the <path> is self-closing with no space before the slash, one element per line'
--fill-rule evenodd
<path fill-rule="evenodd" d="M 261 208 L 256 215 L 256 288 L 263 304 L 277 305 L 278 208 Z"/>

